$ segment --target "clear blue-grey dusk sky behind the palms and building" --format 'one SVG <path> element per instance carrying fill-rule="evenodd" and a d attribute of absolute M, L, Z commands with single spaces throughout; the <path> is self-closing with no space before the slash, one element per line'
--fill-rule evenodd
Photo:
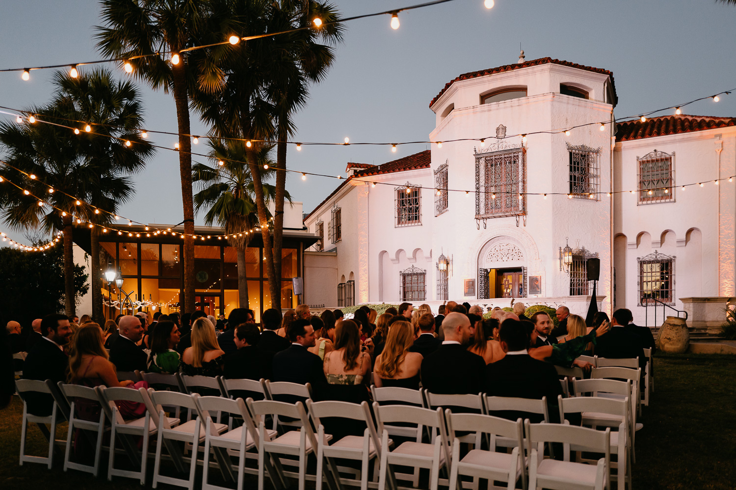
<path fill-rule="evenodd" d="M 334 3 L 347 17 L 415 1 Z M 482 0 L 458 0 L 400 13 L 399 18 L 401 27 L 395 31 L 388 15 L 346 25 L 333 69 L 324 83 L 311 88 L 308 106 L 295 119 L 299 132 L 294 141 L 342 142 L 345 136 L 352 142 L 426 140 L 434 129 L 428 105 L 445 83 L 467 71 L 516 62 L 519 43 L 527 60 L 549 56 L 613 71 L 619 119 L 736 88 L 736 6 L 713 0 L 496 0 L 492 10 L 486 10 Z M 97 1 L 5 0 L 0 69 L 97 60 L 97 24 Z M 128 76 L 112 63 L 107 66 L 118 77 Z M 32 71 L 31 80 L 24 82 L 19 72 L 0 73 L 0 105 L 25 108 L 48 102 L 52 74 Z M 143 82 L 138 85 L 144 94 L 146 128 L 176 132 L 171 95 L 154 92 Z M 718 103 L 689 105 L 683 113 L 736 116 L 736 92 Z M 192 131 L 207 133 L 194 112 Z M 173 149 L 176 138 L 158 135 L 152 141 Z M 289 147 L 287 165 L 344 175 L 348 161 L 381 164 L 427 147 L 406 145 L 397 153 L 390 147 L 319 146 L 301 152 Z M 206 153 L 202 141 L 194 149 Z M 135 181 L 135 198 L 121 207 L 121 215 L 142 223 L 183 219 L 174 151 L 159 150 Z M 338 184 L 333 178 L 302 181 L 292 174 L 286 186 L 309 212 Z M 202 223 L 202 214 L 197 223 Z M 27 241 L 24 231 L 10 230 L 1 222 L 0 229 Z"/>

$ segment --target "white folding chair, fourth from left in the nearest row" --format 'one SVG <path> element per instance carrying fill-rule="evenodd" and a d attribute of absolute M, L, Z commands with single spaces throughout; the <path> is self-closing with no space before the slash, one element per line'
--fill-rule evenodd
<path fill-rule="evenodd" d="M 191 395 L 187 393 L 177 393 L 176 391 L 154 391 L 153 388 L 148 390 L 149 397 L 152 404 L 158 410 L 158 444 L 156 445 L 156 458 L 153 467 L 153 488 L 158 486 L 158 483 L 169 483 L 169 485 L 183 486 L 191 489 L 194 486 L 194 475 L 197 472 L 197 458 L 199 457 L 199 444 L 205 441 L 205 427 L 202 426 L 203 421 L 198 416 L 194 420 L 185 422 L 184 424 L 171 425 L 166 419 L 166 413 L 163 412 L 163 406 L 179 406 L 186 408 L 191 414 L 198 414 L 197 404 L 195 398 L 199 396 L 197 393 Z M 214 424 L 213 429 L 216 433 L 222 433 L 227 429 L 225 424 Z M 176 443 L 166 444 L 166 441 L 180 441 L 183 443 L 191 444 L 191 456 L 185 458 L 182 452 L 176 447 Z M 161 466 L 161 453 L 163 446 L 166 445 L 166 449 L 169 451 L 169 456 L 174 461 L 179 460 L 180 466 L 183 466 L 183 462 L 189 459 L 189 478 L 183 480 L 182 478 L 168 477 L 160 474 Z M 177 465 L 179 466 L 179 465 Z M 229 470 L 228 466 L 228 470 Z"/>

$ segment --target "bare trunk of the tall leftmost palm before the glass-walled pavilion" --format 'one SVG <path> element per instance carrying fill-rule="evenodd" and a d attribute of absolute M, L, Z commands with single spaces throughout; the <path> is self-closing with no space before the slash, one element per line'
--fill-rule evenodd
<path fill-rule="evenodd" d="M 186 88 L 185 66 L 182 60 L 171 68 L 174 85 L 174 102 L 177 106 L 177 124 L 180 135 L 187 135 L 189 127 L 189 100 Z M 184 298 L 182 312 L 194 312 L 194 200 L 191 189 L 191 141 L 189 136 L 179 136 L 179 173 L 182 182 L 184 212 Z"/>

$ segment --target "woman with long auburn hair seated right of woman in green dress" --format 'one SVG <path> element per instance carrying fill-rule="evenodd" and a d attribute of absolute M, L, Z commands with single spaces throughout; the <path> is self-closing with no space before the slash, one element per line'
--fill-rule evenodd
<path fill-rule="evenodd" d="M 224 354 L 217 343 L 215 326 L 207 318 L 197 318 L 191 326 L 191 347 L 182 354 L 179 371 L 185 376 L 219 376 Z"/>

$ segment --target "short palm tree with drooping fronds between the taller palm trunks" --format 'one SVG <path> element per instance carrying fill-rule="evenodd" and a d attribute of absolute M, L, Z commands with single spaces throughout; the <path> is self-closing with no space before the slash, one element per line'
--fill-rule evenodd
<path fill-rule="evenodd" d="M 208 209 L 205 224 L 219 223 L 230 235 L 227 241 L 235 247 L 238 255 L 238 300 L 241 308 L 248 308 L 248 281 L 246 280 L 245 250 L 250 241 L 246 230 L 258 223 L 256 206 L 253 202 L 253 181 L 250 169 L 243 163 L 247 159 L 246 147 L 241 141 L 229 144 L 210 143 L 210 155 L 223 162 L 216 168 L 206 164 L 194 164 L 192 180 L 202 188 L 194 195 L 194 206 L 199 212 Z M 269 158 L 269 147 L 261 147 L 258 165 L 273 165 Z M 273 172 L 273 171 L 272 171 Z M 269 199 L 273 199 L 273 186 L 264 186 Z"/>

